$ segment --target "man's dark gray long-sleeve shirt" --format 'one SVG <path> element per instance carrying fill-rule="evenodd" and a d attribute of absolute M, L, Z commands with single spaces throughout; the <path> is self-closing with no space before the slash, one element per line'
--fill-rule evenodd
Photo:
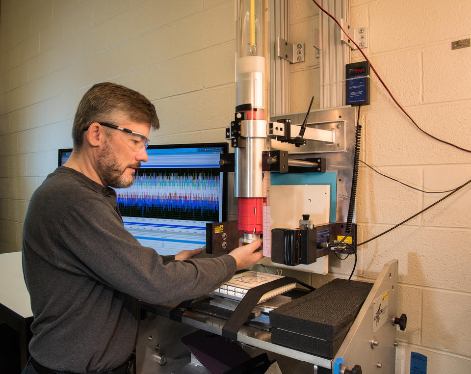
<path fill-rule="evenodd" d="M 34 192 L 24 224 L 30 353 L 57 371 L 116 367 L 136 344 L 138 299 L 206 294 L 235 267 L 229 255 L 174 261 L 143 247 L 124 228 L 114 190 L 62 166 Z"/>

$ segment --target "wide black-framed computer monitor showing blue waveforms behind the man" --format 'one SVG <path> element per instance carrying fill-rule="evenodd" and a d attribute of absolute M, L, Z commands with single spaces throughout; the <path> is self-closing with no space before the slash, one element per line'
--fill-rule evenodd
<path fill-rule="evenodd" d="M 62 153 L 61 153 L 62 151 Z M 59 150 L 59 165 L 67 160 Z M 134 184 L 115 188 L 124 226 L 160 255 L 206 244 L 206 223 L 227 220 L 227 143 L 150 145 Z"/>

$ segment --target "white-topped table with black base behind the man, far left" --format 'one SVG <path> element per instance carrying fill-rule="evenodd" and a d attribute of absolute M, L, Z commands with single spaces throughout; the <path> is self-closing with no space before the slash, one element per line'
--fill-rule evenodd
<path fill-rule="evenodd" d="M 33 312 L 21 265 L 21 252 L 0 253 L 0 320 L 20 334 L 21 367 L 29 357 Z"/>

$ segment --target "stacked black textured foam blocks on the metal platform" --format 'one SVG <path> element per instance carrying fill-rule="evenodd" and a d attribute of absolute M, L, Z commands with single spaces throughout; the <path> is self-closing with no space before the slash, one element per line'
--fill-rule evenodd
<path fill-rule="evenodd" d="M 333 351 L 336 346 L 340 347 L 372 287 L 372 283 L 334 279 L 317 290 L 280 306 L 270 312 L 270 326 L 278 329 L 272 332 L 272 342 L 321 354 L 308 347 L 315 346 L 316 340 L 322 340 L 330 342 L 327 344 L 331 347 L 320 350 L 324 353 Z M 314 338 L 312 344 L 297 342 L 309 337 Z M 339 339 L 340 344 L 333 344 L 339 342 Z M 319 347 L 325 345 L 317 343 Z"/>

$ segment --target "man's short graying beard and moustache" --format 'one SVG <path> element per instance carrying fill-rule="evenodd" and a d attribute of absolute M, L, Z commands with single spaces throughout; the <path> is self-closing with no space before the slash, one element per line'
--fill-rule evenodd
<path fill-rule="evenodd" d="M 118 164 L 118 159 L 113 152 L 113 148 L 109 145 L 108 141 L 106 141 L 102 151 L 98 154 L 97 166 L 99 176 L 105 183 L 105 186 L 127 188 L 134 183 L 134 175 L 131 177 L 126 176 L 126 168 L 139 168 L 141 163 L 136 162 L 133 165 L 128 165 L 124 169 L 121 169 Z"/>

